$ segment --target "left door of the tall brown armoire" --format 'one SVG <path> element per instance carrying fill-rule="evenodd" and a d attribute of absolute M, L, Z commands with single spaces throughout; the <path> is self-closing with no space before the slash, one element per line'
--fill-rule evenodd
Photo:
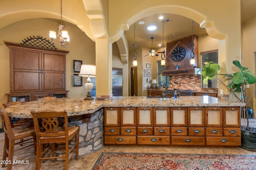
<path fill-rule="evenodd" d="M 11 93 L 40 92 L 40 51 L 10 47 Z"/>

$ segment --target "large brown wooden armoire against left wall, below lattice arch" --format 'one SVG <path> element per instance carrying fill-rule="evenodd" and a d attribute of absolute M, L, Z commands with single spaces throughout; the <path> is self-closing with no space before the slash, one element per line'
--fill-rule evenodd
<path fill-rule="evenodd" d="M 31 100 L 66 91 L 66 54 L 68 51 L 44 49 L 15 43 L 10 48 L 10 94 L 30 93 Z"/>

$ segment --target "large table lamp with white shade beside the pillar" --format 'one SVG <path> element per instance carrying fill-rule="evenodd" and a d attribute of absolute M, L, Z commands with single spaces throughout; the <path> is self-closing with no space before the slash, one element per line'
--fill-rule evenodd
<path fill-rule="evenodd" d="M 91 83 L 90 77 L 96 77 L 96 66 L 90 65 L 90 64 L 82 64 L 80 73 L 78 74 L 80 77 L 88 77 L 87 83 L 84 84 L 85 89 L 87 90 L 87 95 L 84 100 L 94 100 L 94 98 L 91 95 L 91 90 L 93 88 L 93 84 Z"/>

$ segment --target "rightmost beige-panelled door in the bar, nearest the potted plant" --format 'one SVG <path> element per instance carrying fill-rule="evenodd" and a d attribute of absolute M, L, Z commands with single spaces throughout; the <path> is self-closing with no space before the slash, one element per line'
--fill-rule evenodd
<path fill-rule="evenodd" d="M 240 127 L 240 107 L 224 107 L 223 109 L 223 126 Z"/>

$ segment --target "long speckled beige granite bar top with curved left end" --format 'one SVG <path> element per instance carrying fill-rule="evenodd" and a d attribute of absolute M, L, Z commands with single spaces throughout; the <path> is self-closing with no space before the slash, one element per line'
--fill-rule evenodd
<path fill-rule="evenodd" d="M 146 96 L 113 97 L 110 101 L 84 100 L 83 98 L 58 98 L 48 101 L 32 101 L 5 108 L 11 117 L 32 118 L 31 110 L 68 111 L 68 116 L 94 113 L 102 107 L 235 107 L 240 102 L 222 100 L 210 96 L 182 96 L 182 99 L 147 98 Z"/>

